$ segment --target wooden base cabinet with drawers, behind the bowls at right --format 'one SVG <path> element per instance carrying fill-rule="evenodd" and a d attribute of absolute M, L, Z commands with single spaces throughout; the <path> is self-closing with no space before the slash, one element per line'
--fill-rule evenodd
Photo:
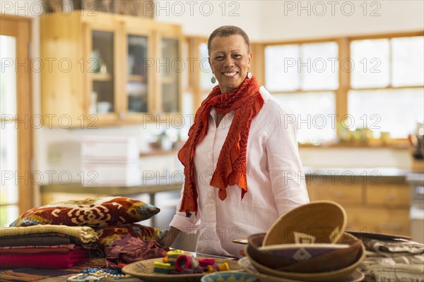
<path fill-rule="evenodd" d="M 404 178 L 380 176 L 378 181 L 362 176 L 307 176 L 311 201 L 331 200 L 341 204 L 348 216 L 348 230 L 409 235 L 409 187 Z"/>

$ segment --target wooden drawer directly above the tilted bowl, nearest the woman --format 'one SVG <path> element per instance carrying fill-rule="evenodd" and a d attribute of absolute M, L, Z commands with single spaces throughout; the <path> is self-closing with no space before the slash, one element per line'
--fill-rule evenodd
<path fill-rule="evenodd" d="M 317 185 L 317 200 L 331 200 L 339 204 L 362 204 L 363 185 Z"/>

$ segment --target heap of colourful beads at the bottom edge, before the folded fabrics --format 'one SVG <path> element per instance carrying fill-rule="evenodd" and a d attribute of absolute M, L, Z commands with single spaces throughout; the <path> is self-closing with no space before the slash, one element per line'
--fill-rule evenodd
<path fill-rule="evenodd" d="M 131 278 L 128 274 L 123 274 L 120 269 L 101 269 L 98 267 L 84 269 L 81 274 L 76 274 L 68 278 L 68 282 L 81 281 L 116 281 Z"/>

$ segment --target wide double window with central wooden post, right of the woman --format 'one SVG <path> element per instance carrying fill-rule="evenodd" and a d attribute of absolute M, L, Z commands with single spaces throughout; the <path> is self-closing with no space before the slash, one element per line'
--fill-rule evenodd
<path fill-rule="evenodd" d="M 295 113 L 300 143 L 346 142 L 346 130 L 365 128 L 384 144 L 424 121 L 423 32 L 259 46 L 265 86 Z"/>

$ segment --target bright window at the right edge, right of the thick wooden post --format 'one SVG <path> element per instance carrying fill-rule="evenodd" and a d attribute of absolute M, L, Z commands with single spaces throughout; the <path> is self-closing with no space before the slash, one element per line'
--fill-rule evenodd
<path fill-rule="evenodd" d="M 424 37 L 351 42 L 348 114 L 374 137 L 406 138 L 423 122 Z"/>

